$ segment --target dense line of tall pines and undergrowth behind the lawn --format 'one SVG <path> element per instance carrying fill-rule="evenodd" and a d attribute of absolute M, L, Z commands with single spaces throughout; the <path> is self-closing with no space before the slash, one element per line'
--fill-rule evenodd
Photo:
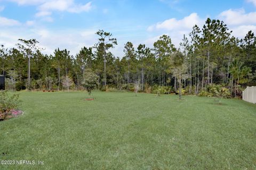
<path fill-rule="evenodd" d="M 238 39 L 231 32 L 223 21 L 207 19 L 202 28 L 195 25 L 189 37 L 183 37 L 179 48 L 163 35 L 153 48 L 127 42 L 122 57 L 110 52 L 117 39 L 103 30 L 96 32 L 97 44 L 75 56 L 59 48 L 46 55 L 36 39 L 19 39 L 14 48 L 1 45 L 0 71 L 13 90 L 83 89 L 89 72 L 97 75 L 99 89 L 133 90 L 139 82 L 140 91 L 199 94 L 219 84 L 236 97 L 256 84 L 256 36 L 249 31 Z"/>

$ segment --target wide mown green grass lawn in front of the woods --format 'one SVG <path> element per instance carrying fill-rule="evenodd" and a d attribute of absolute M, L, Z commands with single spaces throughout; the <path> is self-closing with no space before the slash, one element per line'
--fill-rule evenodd
<path fill-rule="evenodd" d="M 0 122 L 0 169 L 256 169 L 256 105 L 129 92 L 19 92 Z M 4 154 L 3 154 L 4 153 Z"/>

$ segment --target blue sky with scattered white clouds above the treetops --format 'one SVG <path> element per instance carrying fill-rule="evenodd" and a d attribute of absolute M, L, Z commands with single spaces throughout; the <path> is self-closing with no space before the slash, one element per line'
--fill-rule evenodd
<path fill-rule="evenodd" d="M 153 47 L 163 34 L 179 47 L 207 18 L 224 21 L 243 38 L 256 33 L 256 0 L 0 0 L 0 44 L 12 48 L 18 39 L 35 38 L 45 54 L 59 47 L 75 56 L 97 43 L 95 32 L 103 29 L 117 39 L 111 52 L 123 57 L 127 41 Z"/>

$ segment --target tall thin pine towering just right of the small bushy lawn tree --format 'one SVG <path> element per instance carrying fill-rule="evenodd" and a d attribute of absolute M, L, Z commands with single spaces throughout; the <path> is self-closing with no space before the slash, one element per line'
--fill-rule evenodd
<path fill-rule="evenodd" d="M 103 59 L 104 59 L 104 87 L 107 85 L 107 78 L 106 78 L 106 63 L 107 63 L 107 51 L 110 48 L 114 48 L 114 45 L 117 45 L 116 38 L 111 38 L 112 34 L 109 32 L 105 32 L 104 30 L 99 30 L 96 32 L 99 38 L 99 43 L 96 46 L 103 47 Z"/>

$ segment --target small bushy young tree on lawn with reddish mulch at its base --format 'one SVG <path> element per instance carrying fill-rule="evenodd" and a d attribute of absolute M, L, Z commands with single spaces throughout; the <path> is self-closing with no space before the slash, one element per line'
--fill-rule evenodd
<path fill-rule="evenodd" d="M 98 75 L 94 74 L 91 69 L 85 69 L 83 86 L 86 88 L 89 95 L 92 90 L 98 85 Z"/>

